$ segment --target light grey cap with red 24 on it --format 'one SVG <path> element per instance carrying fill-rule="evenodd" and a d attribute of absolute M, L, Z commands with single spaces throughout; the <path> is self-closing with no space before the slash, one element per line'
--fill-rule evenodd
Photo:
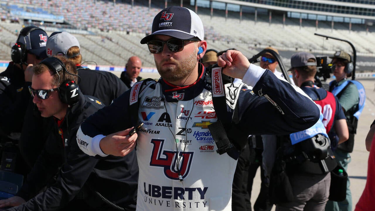
<path fill-rule="evenodd" d="M 80 53 L 68 57 L 66 53 L 69 48 L 77 46 L 80 48 L 78 39 L 68 32 L 54 32 L 49 37 L 46 44 L 47 56 L 65 56 L 68 59 L 80 55 Z"/>

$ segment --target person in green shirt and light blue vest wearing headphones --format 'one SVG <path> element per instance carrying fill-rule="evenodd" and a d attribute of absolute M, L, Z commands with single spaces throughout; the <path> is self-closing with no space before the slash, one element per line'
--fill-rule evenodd
<path fill-rule="evenodd" d="M 351 56 L 345 51 L 336 51 L 335 54 L 333 54 L 333 57 L 330 58 L 332 58 L 333 75 L 335 75 L 336 80 L 331 81 L 329 91 L 338 97 L 342 110 L 345 113 L 349 130 L 349 139 L 338 145 L 338 148 L 334 153 L 336 159 L 346 171 L 348 164 L 351 161 L 350 153 L 353 152 L 354 134 L 356 134 L 358 119 L 365 105 L 366 95 L 362 84 L 355 80 L 347 80 L 347 77 L 350 77 L 354 69 Z M 342 202 L 329 201 L 326 210 L 352 210 L 349 177 L 347 182 L 346 199 Z"/>

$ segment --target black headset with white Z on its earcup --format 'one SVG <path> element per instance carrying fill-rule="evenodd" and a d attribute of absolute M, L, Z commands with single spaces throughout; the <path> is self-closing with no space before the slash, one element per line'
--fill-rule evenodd
<path fill-rule="evenodd" d="M 71 74 L 70 72 L 68 72 L 65 68 L 64 63 L 56 57 L 48 57 L 42 60 L 40 64 L 45 64 L 46 66 L 48 66 L 48 68 L 51 69 L 56 74 L 58 74 L 59 77 L 60 77 L 59 75 L 60 71 L 65 71 L 67 74 L 75 75 L 75 74 Z M 78 76 L 78 75 L 75 75 L 75 76 Z M 73 80 L 63 81 L 63 83 L 60 84 L 60 87 L 58 87 L 58 96 L 60 100 L 63 103 L 66 103 L 68 105 L 76 104 L 80 99 L 80 93 L 81 91 L 77 83 L 75 83 L 75 81 Z"/>

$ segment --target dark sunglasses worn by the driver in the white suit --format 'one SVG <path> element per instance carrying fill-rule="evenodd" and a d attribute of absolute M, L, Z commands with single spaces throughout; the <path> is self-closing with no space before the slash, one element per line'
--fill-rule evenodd
<path fill-rule="evenodd" d="M 198 39 L 169 39 L 167 41 L 151 40 L 147 42 L 148 50 L 152 54 L 161 53 L 164 44 L 168 46 L 172 52 L 179 52 L 184 49 L 184 41 L 199 41 Z"/>

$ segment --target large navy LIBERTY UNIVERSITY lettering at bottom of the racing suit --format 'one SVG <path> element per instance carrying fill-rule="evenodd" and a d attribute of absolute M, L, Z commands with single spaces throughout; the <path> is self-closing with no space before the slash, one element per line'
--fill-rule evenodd
<path fill-rule="evenodd" d="M 147 206 L 196 208 L 200 210 L 208 207 L 208 201 L 205 200 L 207 190 L 208 187 L 183 188 L 159 186 L 143 182 L 144 203 L 150 204 Z M 140 196 L 138 195 L 138 197 Z"/>

